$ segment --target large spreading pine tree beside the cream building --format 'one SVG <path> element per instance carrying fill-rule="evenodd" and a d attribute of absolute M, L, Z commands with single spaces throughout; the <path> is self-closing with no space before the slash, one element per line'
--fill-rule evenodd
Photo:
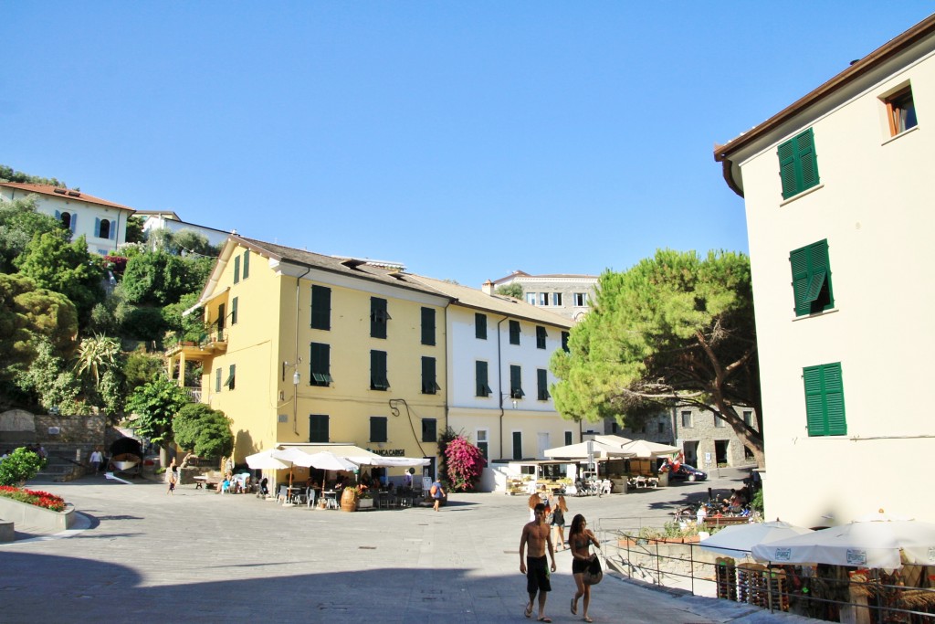
<path fill-rule="evenodd" d="M 639 418 L 672 406 L 723 417 L 763 465 L 750 260 L 658 251 L 605 272 L 594 308 L 552 370 L 556 409 L 576 420 Z M 738 410 L 752 409 L 760 429 Z"/>

